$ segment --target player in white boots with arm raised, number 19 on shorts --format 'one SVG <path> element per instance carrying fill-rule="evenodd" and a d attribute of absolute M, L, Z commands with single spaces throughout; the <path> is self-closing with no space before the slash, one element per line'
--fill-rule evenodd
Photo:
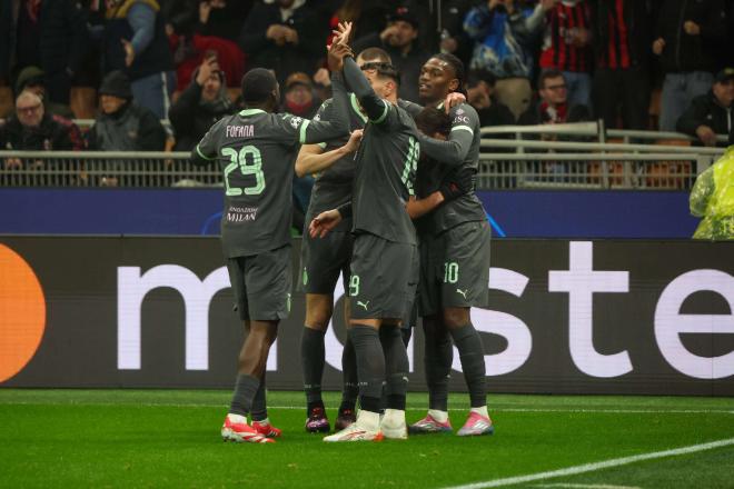
<path fill-rule="evenodd" d="M 346 42 L 344 27 L 340 32 L 338 42 Z M 347 57 L 344 76 L 368 118 L 356 156 L 354 192 L 350 203 L 317 216 L 309 231 L 323 236 L 351 212 L 348 335 L 357 358 L 361 410 L 356 422 L 324 441 L 405 439 L 408 357 L 399 323 L 415 293 L 410 279 L 417 265 L 415 229 L 405 206 L 414 193 L 419 147 L 413 118 L 397 104 L 395 68 L 379 64 L 368 81 Z M 384 382 L 387 409 L 380 421 Z"/>

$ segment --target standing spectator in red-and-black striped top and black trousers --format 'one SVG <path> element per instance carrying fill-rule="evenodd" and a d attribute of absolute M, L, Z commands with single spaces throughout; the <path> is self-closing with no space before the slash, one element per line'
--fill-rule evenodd
<path fill-rule="evenodd" d="M 649 108 L 648 1 L 596 0 L 591 6 L 595 113 L 607 128 L 618 126 L 621 112 L 623 128 L 645 130 Z"/>

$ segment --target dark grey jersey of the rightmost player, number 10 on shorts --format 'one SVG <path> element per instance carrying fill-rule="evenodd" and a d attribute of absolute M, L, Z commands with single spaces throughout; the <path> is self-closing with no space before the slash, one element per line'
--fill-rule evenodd
<path fill-rule="evenodd" d="M 421 181 L 421 191 L 428 193 L 437 190 L 438 182 L 454 170 L 468 168 L 475 173 L 479 170 L 479 116 L 468 103 L 459 103 L 450 109 L 449 118 L 452 129 L 448 141 L 419 136 L 423 153 L 438 162 L 437 167 L 427 169 L 428 180 Z M 470 191 L 437 207 L 428 214 L 428 219 L 421 222 L 421 229 L 439 233 L 463 222 L 484 220 L 484 206 L 474 191 Z M 423 224 L 426 228 L 423 228 Z"/>

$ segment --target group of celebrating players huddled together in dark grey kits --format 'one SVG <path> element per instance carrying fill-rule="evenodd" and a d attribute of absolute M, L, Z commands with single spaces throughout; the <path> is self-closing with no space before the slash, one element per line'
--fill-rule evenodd
<path fill-rule="evenodd" d="M 421 69 L 426 108 L 398 98 L 387 53 L 349 48 L 351 26 L 328 48 L 333 98 L 314 120 L 277 114 L 271 72 L 242 79 L 246 109 L 217 122 L 192 151 L 225 176 L 221 239 L 237 309 L 248 332 L 222 438 L 274 442 L 265 370 L 290 309 L 292 172 L 318 172 L 304 233 L 299 287 L 306 292 L 301 362 L 306 430 L 329 432 L 321 399 L 324 335 L 341 273 L 347 341 L 336 432 L 324 441 L 405 439 L 452 431 L 448 380 L 458 349 L 470 411 L 459 436 L 490 435 L 482 339 L 469 310 L 487 302 L 490 229 L 474 193 L 479 118 L 462 93 L 464 67 L 436 54 Z M 347 92 L 347 87 L 349 92 Z M 408 427 L 406 343 L 414 305 L 423 318 L 429 409 Z M 359 401 L 359 411 L 356 402 Z M 248 423 L 247 417 L 251 418 Z"/>

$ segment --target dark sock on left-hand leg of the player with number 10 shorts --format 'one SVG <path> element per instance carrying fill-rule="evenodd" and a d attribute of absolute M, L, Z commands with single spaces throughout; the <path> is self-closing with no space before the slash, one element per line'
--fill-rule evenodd
<path fill-rule="evenodd" d="M 435 318 L 424 318 L 426 355 L 424 367 L 428 385 L 428 409 L 448 411 L 448 381 L 454 360 L 452 338 Z"/>

